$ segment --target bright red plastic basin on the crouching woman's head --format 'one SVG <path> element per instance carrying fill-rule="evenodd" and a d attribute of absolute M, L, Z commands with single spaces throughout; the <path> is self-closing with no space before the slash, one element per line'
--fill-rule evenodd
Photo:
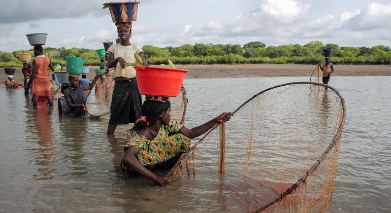
<path fill-rule="evenodd" d="M 135 66 L 140 94 L 176 97 L 187 70 L 154 66 Z"/>

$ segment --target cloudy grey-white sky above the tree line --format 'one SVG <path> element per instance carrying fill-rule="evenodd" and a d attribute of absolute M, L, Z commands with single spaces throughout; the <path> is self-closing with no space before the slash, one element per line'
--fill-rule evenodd
<path fill-rule="evenodd" d="M 132 0 L 133 1 L 133 0 Z M 102 0 L 9 0 L 0 8 L 0 51 L 30 49 L 25 34 L 48 33 L 47 47 L 100 49 L 117 38 Z M 391 46 L 389 0 L 140 0 L 132 43 Z"/>

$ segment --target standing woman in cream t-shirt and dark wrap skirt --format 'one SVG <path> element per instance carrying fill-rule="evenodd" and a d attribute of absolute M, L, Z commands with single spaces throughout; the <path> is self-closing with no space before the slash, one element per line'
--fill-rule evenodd
<path fill-rule="evenodd" d="M 110 107 L 110 120 L 107 134 L 113 134 L 117 125 L 134 123 L 141 115 L 141 95 L 136 81 L 136 70 L 133 66 L 125 67 L 125 62 L 135 62 L 134 53 L 143 59 L 143 65 L 149 66 L 143 50 L 131 44 L 132 22 L 117 22 L 120 44 L 113 44 L 108 49 L 108 68 L 114 67 L 115 85 Z"/>

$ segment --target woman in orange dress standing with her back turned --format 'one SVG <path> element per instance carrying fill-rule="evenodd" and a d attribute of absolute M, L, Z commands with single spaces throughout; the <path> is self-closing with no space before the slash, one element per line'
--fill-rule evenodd
<path fill-rule="evenodd" d="M 42 46 L 34 47 L 34 55 L 36 58 L 32 61 L 32 105 L 37 107 L 38 97 L 47 97 L 50 107 L 53 107 L 52 94 L 50 92 L 49 72 L 48 67 L 54 72 L 54 67 L 49 59 L 43 53 Z"/>

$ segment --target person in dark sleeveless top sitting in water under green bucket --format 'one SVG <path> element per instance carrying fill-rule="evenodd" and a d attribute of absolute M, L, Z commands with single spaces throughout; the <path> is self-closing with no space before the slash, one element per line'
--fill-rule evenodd
<path fill-rule="evenodd" d="M 102 77 L 102 73 L 95 76 L 92 80 L 91 84 L 88 86 L 84 86 L 79 84 L 79 77 L 70 76 L 69 82 L 70 87 L 64 91 L 65 100 L 67 101 L 69 107 L 69 115 L 71 117 L 82 117 L 85 116 L 85 112 L 87 112 L 87 108 L 85 107 L 85 96 L 84 91 L 90 90 L 95 86 L 95 82 L 97 79 Z"/>

